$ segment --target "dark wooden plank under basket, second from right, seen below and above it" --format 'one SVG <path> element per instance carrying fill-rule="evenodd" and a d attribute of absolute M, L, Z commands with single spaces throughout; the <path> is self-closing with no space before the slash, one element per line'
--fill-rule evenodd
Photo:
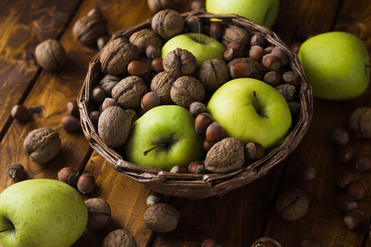
<path fill-rule="evenodd" d="M 286 21 L 275 31 L 286 43 L 293 40 L 295 25 L 302 21 L 312 25 L 314 32 L 326 32 L 333 25 L 340 3 L 281 1 L 280 14 L 286 16 Z M 290 160 L 292 163 L 295 158 Z M 223 246 L 250 246 L 264 231 L 283 170 L 284 164 L 278 164 L 263 178 L 222 198 L 194 202 L 172 198 L 172 204 L 181 214 L 181 224 L 172 233 L 158 234 L 154 246 L 199 246 L 207 238 L 214 238 Z M 284 246 L 297 244 L 284 243 Z"/>

